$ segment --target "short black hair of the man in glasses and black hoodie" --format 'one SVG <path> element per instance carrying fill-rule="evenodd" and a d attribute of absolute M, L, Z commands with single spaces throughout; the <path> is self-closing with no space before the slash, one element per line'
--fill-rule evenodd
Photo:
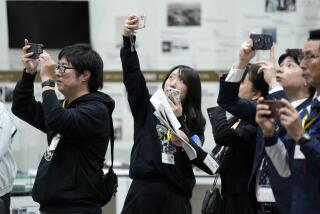
<path fill-rule="evenodd" d="M 85 70 L 90 71 L 88 82 L 90 92 L 96 92 L 103 87 L 103 61 L 90 46 L 85 44 L 66 46 L 58 55 L 58 59 L 61 58 L 66 58 L 76 68 L 78 76 L 83 74 Z"/>

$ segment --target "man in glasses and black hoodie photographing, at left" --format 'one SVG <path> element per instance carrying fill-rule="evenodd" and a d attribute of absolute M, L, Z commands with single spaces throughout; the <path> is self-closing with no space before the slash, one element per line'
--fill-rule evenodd
<path fill-rule="evenodd" d="M 84 45 L 63 48 L 55 64 L 43 51 L 39 59 L 27 53 L 25 69 L 14 94 L 12 112 L 45 132 L 48 149 L 38 167 L 32 190 L 41 213 L 101 213 L 105 193 L 103 162 L 111 130 L 114 101 L 98 92 L 103 86 L 103 62 Z M 41 64 L 42 103 L 34 98 L 34 80 Z M 59 101 L 58 90 L 65 96 Z"/>

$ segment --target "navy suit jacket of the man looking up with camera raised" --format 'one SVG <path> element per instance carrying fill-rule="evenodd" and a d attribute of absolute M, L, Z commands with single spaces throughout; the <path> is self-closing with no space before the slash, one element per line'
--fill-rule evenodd
<path fill-rule="evenodd" d="M 256 124 L 256 103 L 251 100 L 246 100 L 238 97 L 240 83 L 226 82 L 225 77 L 220 78 L 220 90 L 218 95 L 219 105 L 235 115 L 242 120 L 248 121 L 250 124 Z M 266 99 L 281 99 L 286 98 L 284 91 L 277 91 L 275 93 L 269 94 Z M 280 213 L 290 213 L 290 203 L 292 191 L 289 187 L 290 177 L 281 177 L 270 158 L 266 155 L 264 148 L 264 139 L 262 135 L 261 128 L 257 129 L 257 144 L 254 154 L 253 167 L 251 176 L 249 179 L 249 184 L 256 184 L 256 174 L 259 171 L 259 166 L 263 158 L 266 159 L 268 163 L 267 172 L 269 174 L 270 184 L 275 197 L 275 204 L 279 209 Z"/>

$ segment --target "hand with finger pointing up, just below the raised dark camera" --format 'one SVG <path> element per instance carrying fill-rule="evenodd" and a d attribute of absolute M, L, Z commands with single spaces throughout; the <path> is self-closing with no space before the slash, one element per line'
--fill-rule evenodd
<path fill-rule="evenodd" d="M 258 70 L 258 74 L 263 73 L 264 80 L 268 83 L 269 88 L 277 85 L 276 79 L 276 68 L 275 68 L 275 57 L 274 57 L 275 46 L 270 49 L 270 59 L 269 61 L 259 61 L 258 65 L 261 67 Z"/>

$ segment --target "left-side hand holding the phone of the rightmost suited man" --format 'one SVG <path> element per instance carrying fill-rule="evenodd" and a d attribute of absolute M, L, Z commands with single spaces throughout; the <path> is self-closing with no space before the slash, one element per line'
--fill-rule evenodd
<path fill-rule="evenodd" d="M 272 137 L 275 131 L 275 119 L 271 117 L 271 110 L 268 105 L 263 104 L 263 100 L 263 97 L 260 97 L 257 101 L 256 122 L 265 137 Z"/>

